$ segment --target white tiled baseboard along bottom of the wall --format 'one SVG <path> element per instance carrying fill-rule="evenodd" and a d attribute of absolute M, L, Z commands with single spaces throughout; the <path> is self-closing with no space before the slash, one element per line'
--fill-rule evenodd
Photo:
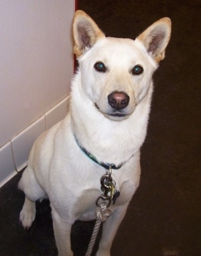
<path fill-rule="evenodd" d="M 66 97 L 0 148 L 0 188 L 27 165 L 29 151 L 37 137 L 66 116 L 68 99 Z"/>

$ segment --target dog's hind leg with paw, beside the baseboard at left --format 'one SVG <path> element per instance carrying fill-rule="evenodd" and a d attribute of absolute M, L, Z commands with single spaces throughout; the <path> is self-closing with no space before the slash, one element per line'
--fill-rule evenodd
<path fill-rule="evenodd" d="M 28 168 L 23 172 L 18 186 L 25 193 L 25 201 L 19 214 L 19 220 L 24 229 L 29 229 L 36 216 L 36 200 L 42 200 L 46 193 L 38 184 L 34 172 Z"/>

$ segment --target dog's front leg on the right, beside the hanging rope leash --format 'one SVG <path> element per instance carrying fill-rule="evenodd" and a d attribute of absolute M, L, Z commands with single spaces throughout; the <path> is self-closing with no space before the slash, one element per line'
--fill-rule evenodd
<path fill-rule="evenodd" d="M 121 208 L 117 208 L 103 223 L 103 233 L 96 256 L 111 255 L 112 243 L 117 233 L 117 229 L 119 228 L 119 225 L 125 216 L 126 210 L 127 205 L 121 206 Z"/>

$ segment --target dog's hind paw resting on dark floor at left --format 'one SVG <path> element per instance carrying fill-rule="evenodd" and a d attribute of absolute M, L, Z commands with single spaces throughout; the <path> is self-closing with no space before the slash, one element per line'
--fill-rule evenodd
<path fill-rule="evenodd" d="M 20 214 L 19 214 L 19 220 L 21 221 L 21 224 L 23 226 L 23 229 L 29 229 L 31 227 L 31 224 L 34 222 L 36 216 L 36 209 L 34 207 L 25 209 L 22 208 Z"/>

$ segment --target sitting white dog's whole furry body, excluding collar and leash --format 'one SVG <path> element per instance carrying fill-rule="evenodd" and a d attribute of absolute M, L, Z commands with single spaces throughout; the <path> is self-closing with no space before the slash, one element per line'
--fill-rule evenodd
<path fill-rule="evenodd" d="M 113 213 L 103 225 L 96 253 L 110 255 L 117 229 L 139 186 L 139 150 L 147 131 L 152 75 L 165 56 L 170 33 L 171 21 L 165 17 L 135 41 L 105 38 L 86 13 L 76 11 L 74 15 L 74 53 L 80 66 L 72 81 L 70 110 L 63 121 L 36 140 L 19 182 L 25 193 L 20 213 L 25 229 L 34 221 L 36 200 L 50 198 L 59 256 L 73 255 L 72 224 L 96 218 L 96 199 L 102 194 L 100 177 L 105 168 L 86 157 L 78 143 L 98 162 L 123 164 L 113 170 L 121 194 L 110 206 Z"/>

